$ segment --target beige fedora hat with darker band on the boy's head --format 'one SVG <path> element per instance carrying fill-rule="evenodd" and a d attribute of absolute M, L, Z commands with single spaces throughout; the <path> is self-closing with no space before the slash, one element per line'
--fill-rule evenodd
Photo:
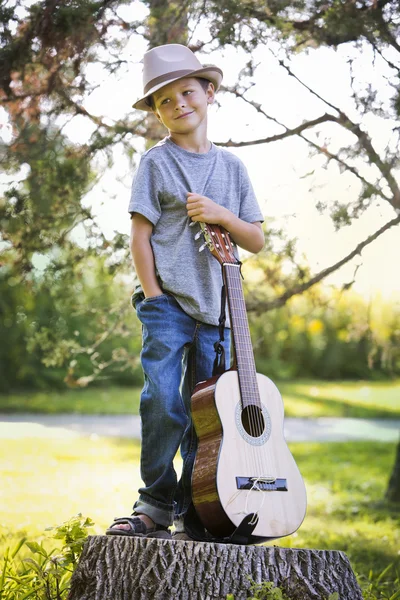
<path fill-rule="evenodd" d="M 203 77 L 221 85 L 223 73 L 215 66 L 203 67 L 193 52 L 181 44 L 166 44 L 152 48 L 143 57 L 143 98 L 133 104 L 138 110 L 151 111 L 146 98 L 165 85 L 184 77 Z"/>

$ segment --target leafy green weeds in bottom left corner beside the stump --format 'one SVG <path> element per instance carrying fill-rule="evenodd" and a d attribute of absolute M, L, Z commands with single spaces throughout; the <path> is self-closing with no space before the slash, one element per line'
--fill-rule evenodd
<path fill-rule="evenodd" d="M 28 542 L 22 538 L 11 551 L 6 550 L 0 571 L 1 600 L 66 600 L 71 575 L 82 553 L 91 519 L 77 515 L 54 531 L 53 539 L 63 540 L 61 549 L 47 550 L 43 542 Z M 22 550 L 28 556 L 20 557 Z"/>

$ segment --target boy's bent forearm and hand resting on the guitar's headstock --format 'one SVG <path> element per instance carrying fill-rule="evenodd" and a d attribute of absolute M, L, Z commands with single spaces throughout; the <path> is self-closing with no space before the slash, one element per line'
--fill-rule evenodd
<path fill-rule="evenodd" d="M 210 198 L 191 192 L 187 195 L 186 208 L 192 221 L 222 225 L 235 244 L 244 250 L 256 254 L 263 249 L 265 240 L 261 223 L 247 223 Z"/>

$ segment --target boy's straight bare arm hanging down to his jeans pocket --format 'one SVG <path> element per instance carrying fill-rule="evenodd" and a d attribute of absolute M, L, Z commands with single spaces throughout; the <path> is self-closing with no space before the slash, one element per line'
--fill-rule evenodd
<path fill-rule="evenodd" d="M 139 213 L 133 214 L 130 241 L 131 256 L 146 298 L 160 296 L 163 293 L 156 276 L 154 254 L 150 244 L 152 231 L 153 225 L 146 217 Z"/>

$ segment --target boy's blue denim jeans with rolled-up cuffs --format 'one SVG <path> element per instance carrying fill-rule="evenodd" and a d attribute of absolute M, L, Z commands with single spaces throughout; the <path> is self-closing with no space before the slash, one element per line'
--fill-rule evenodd
<path fill-rule="evenodd" d="M 197 440 L 190 396 L 196 383 L 212 376 L 219 331 L 190 317 L 170 294 L 139 296 L 135 308 L 143 338 L 140 468 L 144 486 L 133 509 L 169 526 L 182 520 L 191 502 Z M 224 337 L 229 368 L 229 329 Z M 179 448 L 183 468 L 178 481 L 173 460 Z"/>

